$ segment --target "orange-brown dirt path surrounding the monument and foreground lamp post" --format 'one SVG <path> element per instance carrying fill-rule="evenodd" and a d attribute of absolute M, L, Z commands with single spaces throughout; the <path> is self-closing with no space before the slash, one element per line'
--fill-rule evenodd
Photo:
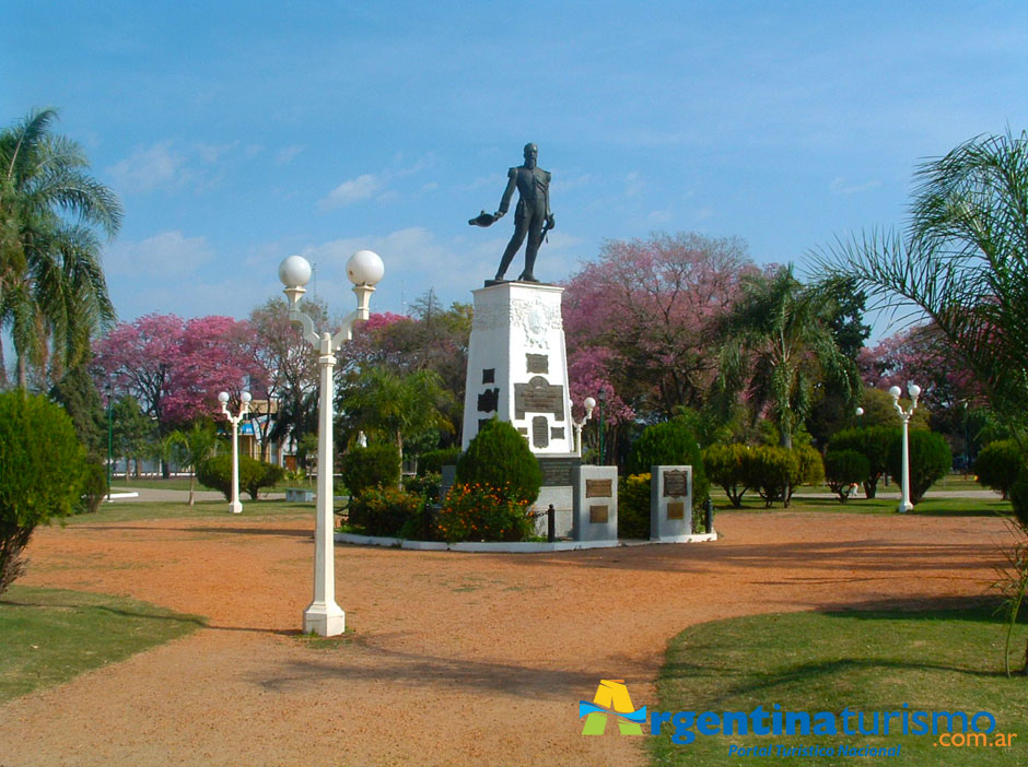
<path fill-rule="evenodd" d="M 245 515 L 244 515 L 245 517 Z M 713 544 L 548 555 L 339 546 L 342 646 L 297 638 L 313 519 L 37 532 L 23 582 L 126 594 L 210 627 L 0 707 L 0 766 L 644 765 L 583 738 L 599 678 L 653 705 L 667 640 L 714 618 L 982 593 L 990 518 L 723 514 Z"/>

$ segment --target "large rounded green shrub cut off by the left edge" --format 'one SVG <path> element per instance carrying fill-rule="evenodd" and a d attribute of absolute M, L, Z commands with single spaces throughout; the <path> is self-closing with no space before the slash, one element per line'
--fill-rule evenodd
<path fill-rule="evenodd" d="M 72 512 L 84 472 L 85 450 L 59 405 L 21 390 L 0 394 L 0 594 L 24 571 L 36 526 Z"/>

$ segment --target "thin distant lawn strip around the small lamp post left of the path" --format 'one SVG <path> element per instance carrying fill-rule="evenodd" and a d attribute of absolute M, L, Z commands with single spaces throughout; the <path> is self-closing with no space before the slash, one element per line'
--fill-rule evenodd
<path fill-rule="evenodd" d="M 231 514 L 226 500 L 198 500 L 195 506 L 178 502 L 118 502 L 101 504 L 96 514 L 67 517 L 65 524 L 98 524 L 140 519 L 232 519 L 245 524 L 249 519 L 268 517 L 313 517 L 314 504 L 284 500 L 243 500 L 243 512 Z M 60 522 L 55 522 L 59 524 Z"/>

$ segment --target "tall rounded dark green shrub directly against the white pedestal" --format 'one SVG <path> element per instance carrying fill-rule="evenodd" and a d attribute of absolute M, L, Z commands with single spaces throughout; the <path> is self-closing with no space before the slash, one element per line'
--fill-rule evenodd
<path fill-rule="evenodd" d="M 486 422 L 457 461 L 455 484 L 491 487 L 530 506 L 542 486 L 542 470 L 528 441 L 506 421 Z"/>

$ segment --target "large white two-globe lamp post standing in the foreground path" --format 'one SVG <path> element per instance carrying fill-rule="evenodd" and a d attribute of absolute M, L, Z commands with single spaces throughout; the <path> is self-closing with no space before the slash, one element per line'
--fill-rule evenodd
<path fill-rule="evenodd" d="M 279 279 L 289 298 L 289 318 L 303 328 L 303 337 L 318 351 L 319 394 L 317 448 L 317 519 L 314 527 L 314 601 L 303 613 L 303 630 L 331 637 L 346 630 L 346 613 L 336 604 L 336 567 L 332 548 L 332 368 L 336 351 L 351 338 L 353 323 L 366 320 L 371 294 L 382 280 L 385 267 L 377 253 L 358 250 L 347 262 L 347 276 L 357 294 L 357 309 L 342 320 L 342 328 L 332 335 L 318 333 L 314 320 L 297 305 L 304 285 L 311 279 L 311 264 L 301 256 L 290 256 L 279 266 Z"/>

